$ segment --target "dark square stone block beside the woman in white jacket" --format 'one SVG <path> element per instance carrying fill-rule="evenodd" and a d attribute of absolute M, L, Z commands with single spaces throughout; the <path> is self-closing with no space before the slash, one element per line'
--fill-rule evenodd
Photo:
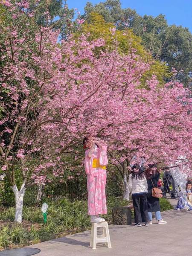
<path fill-rule="evenodd" d="M 119 206 L 113 207 L 114 225 L 131 225 L 131 207 Z"/>

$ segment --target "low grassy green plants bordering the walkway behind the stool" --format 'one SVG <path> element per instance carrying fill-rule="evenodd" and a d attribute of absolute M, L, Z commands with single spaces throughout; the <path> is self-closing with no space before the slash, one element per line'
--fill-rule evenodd
<path fill-rule="evenodd" d="M 112 222 L 112 208 L 126 205 L 116 197 L 108 197 L 108 214 L 105 219 Z M 43 222 L 41 207 L 23 207 L 23 223 L 13 224 L 15 208 L 10 207 L 0 212 L 0 220 L 11 224 L 0 227 L 0 250 L 13 244 L 26 245 L 46 241 L 67 233 L 76 233 L 90 228 L 87 215 L 87 201 L 69 201 L 66 198 L 48 203 L 47 224 Z M 28 226 L 26 227 L 26 224 Z"/>

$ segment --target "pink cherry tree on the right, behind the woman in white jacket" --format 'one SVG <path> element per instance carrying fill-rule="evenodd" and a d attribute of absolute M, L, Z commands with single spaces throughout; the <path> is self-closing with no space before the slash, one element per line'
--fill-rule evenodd
<path fill-rule="evenodd" d="M 158 89 L 153 77 L 148 81 L 150 90 L 129 87 L 126 116 L 123 116 L 113 144 L 110 147 L 111 163 L 124 180 L 124 198 L 129 198 L 127 176 L 130 162 L 144 166 L 163 163 L 173 168 L 177 162 L 181 172 L 192 175 L 192 104 L 189 91 L 172 81 Z"/>

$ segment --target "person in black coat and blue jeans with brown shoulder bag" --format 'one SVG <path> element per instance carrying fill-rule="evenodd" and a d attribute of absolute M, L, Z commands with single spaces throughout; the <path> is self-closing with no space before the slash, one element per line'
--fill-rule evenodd
<path fill-rule="evenodd" d="M 160 172 L 157 171 L 157 165 L 152 164 L 148 165 L 148 169 L 145 170 L 145 175 L 148 185 L 147 201 L 148 201 L 148 218 L 149 224 L 152 224 L 152 212 L 155 212 L 156 219 L 158 224 L 166 224 L 166 221 L 163 221 L 160 213 L 160 201 L 159 198 L 154 198 L 152 196 L 152 189 L 157 188 L 157 182 L 160 178 Z"/>

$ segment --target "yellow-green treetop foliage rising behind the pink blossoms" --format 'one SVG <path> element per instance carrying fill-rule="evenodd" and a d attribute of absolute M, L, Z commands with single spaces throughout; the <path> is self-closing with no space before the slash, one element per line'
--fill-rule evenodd
<path fill-rule="evenodd" d="M 157 76 L 160 86 L 163 85 L 165 79 L 171 78 L 172 73 L 170 73 L 166 63 L 154 60 L 151 53 L 144 49 L 142 39 L 135 35 L 131 29 L 116 30 L 115 35 L 111 36 L 111 29 L 113 27 L 114 25 L 107 23 L 104 17 L 98 13 L 91 12 L 89 14 L 89 22 L 84 23 L 81 32 L 84 34 L 90 33 L 90 41 L 103 38 L 105 40 L 105 47 L 102 47 L 102 50 L 106 48 L 113 50 L 116 47 L 113 41 L 115 38 L 118 41 L 118 50 L 120 53 L 132 53 L 133 49 L 136 49 L 136 53 L 141 56 L 143 61 L 150 64 L 150 69 L 146 71 L 141 78 L 141 87 L 145 87 L 146 80 L 150 79 L 153 75 Z"/>

